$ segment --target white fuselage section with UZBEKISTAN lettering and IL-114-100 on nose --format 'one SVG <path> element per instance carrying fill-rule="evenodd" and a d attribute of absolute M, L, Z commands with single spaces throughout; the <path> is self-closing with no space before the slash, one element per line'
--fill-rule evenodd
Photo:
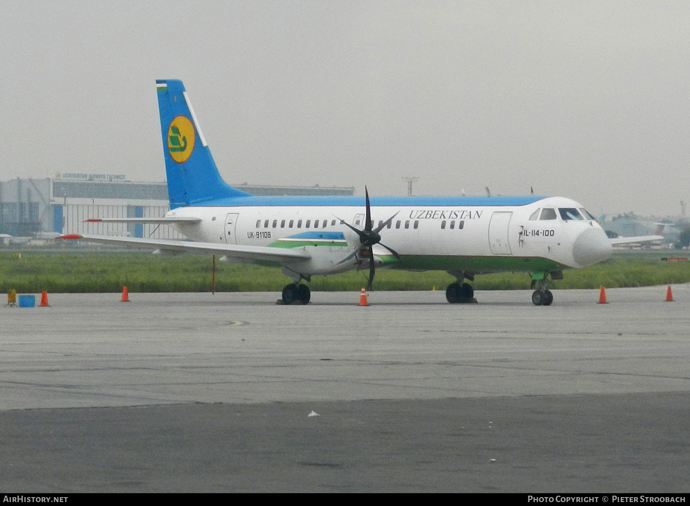
<path fill-rule="evenodd" d="M 537 213 L 542 209 L 553 209 L 554 216 Z M 563 209 L 581 210 L 581 217 L 564 219 Z M 393 215 L 380 235 L 383 244 L 411 260 L 402 262 L 402 268 L 414 269 L 420 262 L 431 265 L 429 259 L 440 257 L 538 258 L 578 268 L 611 253 L 598 222 L 580 204 L 564 197 L 520 206 L 371 206 L 374 228 Z M 198 223 L 177 225 L 192 240 L 249 246 L 268 246 L 309 231 L 342 231 L 347 251 L 352 251 L 359 247 L 357 235 L 339 220 L 364 228 L 363 206 L 189 206 L 167 216 L 201 218 Z M 390 254 L 378 245 L 374 252 Z M 445 269 L 444 265 L 438 269 Z"/>

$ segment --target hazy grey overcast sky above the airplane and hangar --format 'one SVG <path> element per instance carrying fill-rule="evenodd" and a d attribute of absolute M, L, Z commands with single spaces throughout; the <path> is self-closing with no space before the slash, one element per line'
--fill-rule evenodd
<path fill-rule="evenodd" d="M 230 184 L 690 200 L 690 2 L 0 0 L 0 180 L 163 181 L 182 79 Z"/>

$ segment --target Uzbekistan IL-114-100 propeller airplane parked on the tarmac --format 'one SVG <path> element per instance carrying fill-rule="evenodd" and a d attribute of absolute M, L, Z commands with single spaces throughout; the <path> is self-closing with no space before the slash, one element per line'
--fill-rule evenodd
<path fill-rule="evenodd" d="M 90 218 L 89 222 L 167 224 L 190 240 L 63 235 L 154 253 L 222 255 L 226 262 L 282 267 L 284 304 L 306 304 L 304 281 L 378 268 L 446 271 L 452 304 L 476 302 L 475 275 L 529 273 L 532 302 L 549 306 L 551 280 L 566 269 L 606 260 L 611 240 L 584 206 L 566 197 L 257 197 L 221 178 L 206 137 L 177 79 L 156 81 L 170 211 L 159 218 Z M 654 237 L 658 239 L 660 237 Z M 634 240 L 635 238 L 628 238 Z"/>

